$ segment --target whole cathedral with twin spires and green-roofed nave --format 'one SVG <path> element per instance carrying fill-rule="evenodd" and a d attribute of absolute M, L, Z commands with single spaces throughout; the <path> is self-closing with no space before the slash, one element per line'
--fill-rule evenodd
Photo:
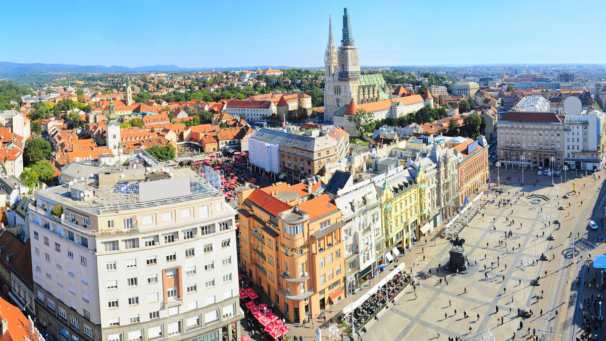
<path fill-rule="evenodd" d="M 324 55 L 324 119 L 333 121 L 339 108 L 352 100 L 357 104 L 389 99 L 381 74 L 360 74 L 360 53 L 354 45 L 347 7 L 343 14 L 343 39 L 337 49 L 333 38 L 332 18 L 328 19 L 328 45 Z"/>

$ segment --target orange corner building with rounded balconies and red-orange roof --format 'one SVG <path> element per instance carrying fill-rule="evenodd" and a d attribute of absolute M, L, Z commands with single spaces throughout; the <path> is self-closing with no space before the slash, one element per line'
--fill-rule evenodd
<path fill-rule="evenodd" d="M 328 194 L 309 195 L 319 188 L 238 188 L 242 268 L 293 323 L 317 317 L 344 294 L 344 223 Z"/>

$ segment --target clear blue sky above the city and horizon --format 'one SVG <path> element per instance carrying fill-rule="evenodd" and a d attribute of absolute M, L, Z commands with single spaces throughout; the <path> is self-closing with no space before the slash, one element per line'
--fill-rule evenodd
<path fill-rule="evenodd" d="M 604 63 L 606 1 L 5 1 L 0 61 L 324 65 L 350 10 L 362 65 Z"/>

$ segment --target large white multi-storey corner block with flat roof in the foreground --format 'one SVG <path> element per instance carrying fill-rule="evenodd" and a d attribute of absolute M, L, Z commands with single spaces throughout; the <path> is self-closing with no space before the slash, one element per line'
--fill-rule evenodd
<path fill-rule="evenodd" d="M 239 339 L 235 210 L 218 173 L 135 156 L 145 167 L 93 163 L 89 177 L 35 193 L 39 329 L 48 340 Z"/>

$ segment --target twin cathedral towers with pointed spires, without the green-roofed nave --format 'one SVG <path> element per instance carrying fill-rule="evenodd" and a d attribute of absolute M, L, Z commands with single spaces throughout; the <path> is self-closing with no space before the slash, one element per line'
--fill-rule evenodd
<path fill-rule="evenodd" d="M 328 45 L 324 56 L 326 80 L 324 85 L 324 119 L 333 121 L 339 108 L 351 100 L 359 103 L 358 81 L 360 78 L 360 52 L 354 45 L 347 7 L 343 14 L 343 38 L 338 51 L 333 39 L 332 20 L 328 27 Z M 335 60 L 336 53 L 336 60 Z M 336 66 L 335 66 L 336 64 Z"/>

